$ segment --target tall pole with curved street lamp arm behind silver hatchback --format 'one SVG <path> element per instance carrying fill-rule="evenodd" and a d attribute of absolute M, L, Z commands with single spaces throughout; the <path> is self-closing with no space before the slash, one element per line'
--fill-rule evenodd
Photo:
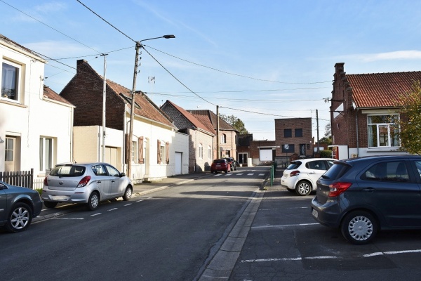
<path fill-rule="evenodd" d="M 132 138 L 133 138 L 133 120 L 135 119 L 135 91 L 136 91 L 136 78 L 138 77 L 138 60 L 139 60 L 139 49 L 143 47 L 143 45 L 140 43 L 142 41 L 147 40 L 153 40 L 153 39 L 159 39 L 159 38 L 175 38 L 174 35 L 163 35 L 161 37 L 154 37 L 149 39 L 143 39 L 136 42 L 136 58 L 135 58 L 135 72 L 133 74 L 133 88 L 131 92 L 131 111 L 130 111 L 130 129 L 128 131 L 128 159 L 127 159 L 127 176 L 131 178 L 131 157 L 132 157 Z"/>

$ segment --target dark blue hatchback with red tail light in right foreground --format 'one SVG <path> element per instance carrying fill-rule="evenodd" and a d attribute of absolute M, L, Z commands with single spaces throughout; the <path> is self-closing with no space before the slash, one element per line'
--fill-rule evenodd
<path fill-rule="evenodd" d="M 379 230 L 421 229 L 421 156 L 335 161 L 317 181 L 312 216 L 364 244 Z"/>

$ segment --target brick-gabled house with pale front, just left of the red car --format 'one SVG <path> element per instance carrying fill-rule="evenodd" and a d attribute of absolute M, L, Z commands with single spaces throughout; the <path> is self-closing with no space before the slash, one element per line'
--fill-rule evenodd
<path fill-rule="evenodd" d="M 192 113 L 170 100 L 161 106 L 161 110 L 171 117 L 178 131 L 189 136 L 189 173 L 210 170 L 215 131 L 208 129 Z"/>

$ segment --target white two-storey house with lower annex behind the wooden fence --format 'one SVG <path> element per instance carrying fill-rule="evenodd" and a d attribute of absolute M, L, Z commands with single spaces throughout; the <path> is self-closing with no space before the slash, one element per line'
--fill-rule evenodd
<path fill-rule="evenodd" d="M 0 34 L 0 171 L 72 161 L 74 105 L 44 85 L 46 60 Z"/>

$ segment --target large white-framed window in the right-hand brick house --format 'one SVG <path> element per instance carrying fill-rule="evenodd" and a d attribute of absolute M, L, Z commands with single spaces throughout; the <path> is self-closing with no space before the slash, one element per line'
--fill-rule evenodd
<path fill-rule="evenodd" d="M 368 147 L 399 147 L 399 115 L 369 115 L 367 117 Z"/>

